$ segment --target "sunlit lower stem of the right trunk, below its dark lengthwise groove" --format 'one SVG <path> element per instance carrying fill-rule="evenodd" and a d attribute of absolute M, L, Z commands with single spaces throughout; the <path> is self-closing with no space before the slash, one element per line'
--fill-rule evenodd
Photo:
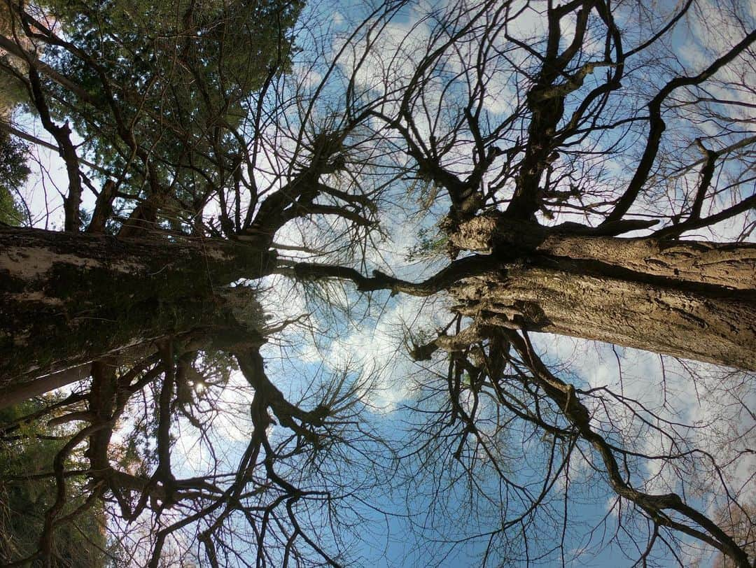
<path fill-rule="evenodd" d="M 756 303 L 524 267 L 467 279 L 455 309 L 481 323 L 756 369 Z"/>

